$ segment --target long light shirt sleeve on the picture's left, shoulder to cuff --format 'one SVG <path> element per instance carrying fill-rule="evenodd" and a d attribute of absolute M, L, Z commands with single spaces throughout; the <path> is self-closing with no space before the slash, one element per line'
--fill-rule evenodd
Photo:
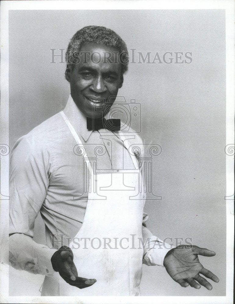
<path fill-rule="evenodd" d="M 49 185 L 47 155 L 34 136 L 23 136 L 12 149 L 10 161 L 9 262 L 35 274 L 53 275 L 56 251 L 33 240 L 34 221 Z"/>

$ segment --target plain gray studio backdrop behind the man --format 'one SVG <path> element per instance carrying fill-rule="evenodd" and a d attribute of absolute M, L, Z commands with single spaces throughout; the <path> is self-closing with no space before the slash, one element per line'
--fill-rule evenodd
<path fill-rule="evenodd" d="M 65 106 L 66 65 L 59 64 L 59 58 L 50 64 L 50 49 L 59 54 L 59 48 L 65 49 L 73 34 L 87 25 L 115 30 L 128 49 L 144 56 L 192 52 L 191 64 L 130 64 L 119 95 L 141 103 L 140 135 L 162 147 L 153 164 L 153 188 L 162 200 L 146 202 L 148 228 L 161 239 L 189 237 L 193 244 L 214 250 L 215 257 L 200 261 L 220 282 L 212 283 L 212 291 L 182 288 L 164 268 L 144 265 L 141 294 L 225 295 L 225 11 L 10 11 L 10 147 Z M 39 216 L 37 242 L 44 242 L 43 233 Z M 30 275 L 23 278 L 23 271 L 11 272 L 10 294 L 39 294 L 40 275 L 35 285 L 28 282 Z"/>

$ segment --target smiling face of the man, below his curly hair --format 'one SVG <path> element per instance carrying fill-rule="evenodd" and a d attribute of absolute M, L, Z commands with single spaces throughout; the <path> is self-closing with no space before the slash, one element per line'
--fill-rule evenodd
<path fill-rule="evenodd" d="M 80 55 L 80 62 L 74 64 L 72 71 L 66 70 L 71 96 L 80 111 L 87 117 L 104 116 L 115 100 L 112 98 L 110 102 L 109 97 L 116 97 L 118 89 L 122 86 L 123 76 L 121 63 L 117 62 L 117 52 L 118 49 L 115 47 L 94 42 L 84 43 L 80 48 L 80 54 L 83 54 Z M 110 56 L 109 60 L 108 56 Z M 104 112 L 94 111 L 95 106 L 105 109 Z"/>

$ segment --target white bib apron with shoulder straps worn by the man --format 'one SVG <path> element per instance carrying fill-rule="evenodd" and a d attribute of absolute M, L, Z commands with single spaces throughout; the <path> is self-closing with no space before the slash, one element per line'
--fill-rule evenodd
<path fill-rule="evenodd" d="M 76 142 L 84 146 L 73 126 L 61 112 Z M 121 134 L 125 147 L 129 143 Z M 85 149 L 84 149 L 85 151 Z M 131 155 L 131 154 L 130 154 Z M 84 154 L 89 169 L 89 193 L 82 227 L 70 248 L 78 276 L 95 278 L 92 286 L 79 289 L 66 283 L 58 272 L 45 277 L 41 295 L 96 296 L 139 295 L 142 276 L 143 246 L 142 219 L 144 200 L 139 193 L 139 168 L 131 155 L 134 170 L 109 170 L 94 175 L 91 163 Z M 130 200 L 135 196 L 135 200 Z M 86 246 L 84 240 L 86 239 Z"/>

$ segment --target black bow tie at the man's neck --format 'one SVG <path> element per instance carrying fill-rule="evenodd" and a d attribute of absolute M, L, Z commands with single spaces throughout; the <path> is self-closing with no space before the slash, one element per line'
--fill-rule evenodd
<path fill-rule="evenodd" d="M 99 130 L 106 129 L 109 131 L 120 130 L 120 119 L 105 119 L 105 118 L 89 118 L 87 117 L 87 129 Z"/>

